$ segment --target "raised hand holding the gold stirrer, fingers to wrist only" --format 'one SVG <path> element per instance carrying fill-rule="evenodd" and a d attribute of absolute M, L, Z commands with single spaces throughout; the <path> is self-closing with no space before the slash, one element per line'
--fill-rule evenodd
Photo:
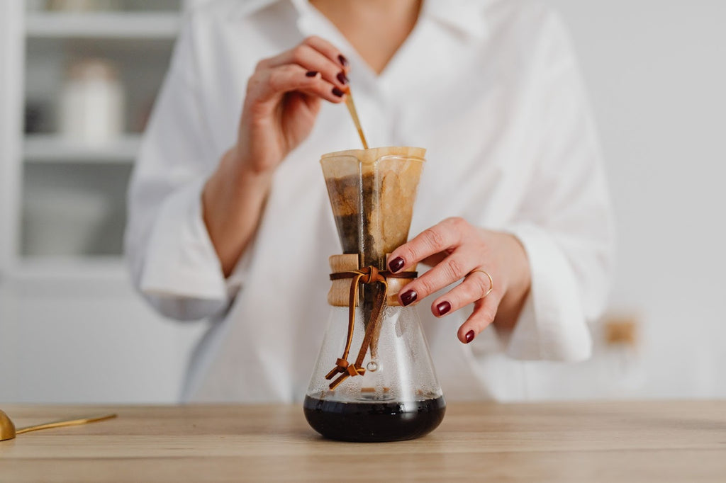
<path fill-rule="evenodd" d="M 235 147 L 240 168 L 272 173 L 309 135 L 321 99 L 343 101 L 347 73 L 343 54 L 319 37 L 258 62 L 248 81 Z"/>

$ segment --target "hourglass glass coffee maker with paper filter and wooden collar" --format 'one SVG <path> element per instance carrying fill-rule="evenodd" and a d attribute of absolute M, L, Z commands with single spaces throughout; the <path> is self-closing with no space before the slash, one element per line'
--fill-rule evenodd
<path fill-rule="evenodd" d="M 309 424 L 344 441 L 421 437 L 446 402 L 420 320 L 398 292 L 416 273 L 390 273 L 408 239 L 425 149 L 325 154 L 320 163 L 342 255 L 330 257 L 330 320 L 304 402 Z"/>

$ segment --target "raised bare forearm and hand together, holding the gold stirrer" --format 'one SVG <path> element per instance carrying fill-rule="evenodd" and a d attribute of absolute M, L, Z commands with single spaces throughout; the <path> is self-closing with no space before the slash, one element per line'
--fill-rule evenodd
<path fill-rule="evenodd" d="M 202 193 L 204 223 L 225 276 L 252 239 L 274 170 L 310 134 L 322 99 L 343 102 L 347 73 L 343 54 L 319 37 L 258 63 L 237 143 Z"/>

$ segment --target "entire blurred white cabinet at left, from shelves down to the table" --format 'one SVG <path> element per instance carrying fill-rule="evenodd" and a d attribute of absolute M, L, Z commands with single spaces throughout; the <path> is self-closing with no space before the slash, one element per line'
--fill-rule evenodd
<path fill-rule="evenodd" d="M 0 2 L 0 402 L 171 402 L 203 324 L 144 304 L 121 240 L 181 2 L 46 3 Z M 123 130 L 103 143 L 59 135 L 60 97 L 85 59 L 123 86 Z"/>

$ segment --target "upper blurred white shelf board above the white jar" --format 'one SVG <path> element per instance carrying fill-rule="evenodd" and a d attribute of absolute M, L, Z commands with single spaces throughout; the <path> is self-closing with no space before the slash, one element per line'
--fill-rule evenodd
<path fill-rule="evenodd" d="M 30 38 L 156 38 L 173 40 L 179 12 L 32 12 L 25 18 Z"/>

